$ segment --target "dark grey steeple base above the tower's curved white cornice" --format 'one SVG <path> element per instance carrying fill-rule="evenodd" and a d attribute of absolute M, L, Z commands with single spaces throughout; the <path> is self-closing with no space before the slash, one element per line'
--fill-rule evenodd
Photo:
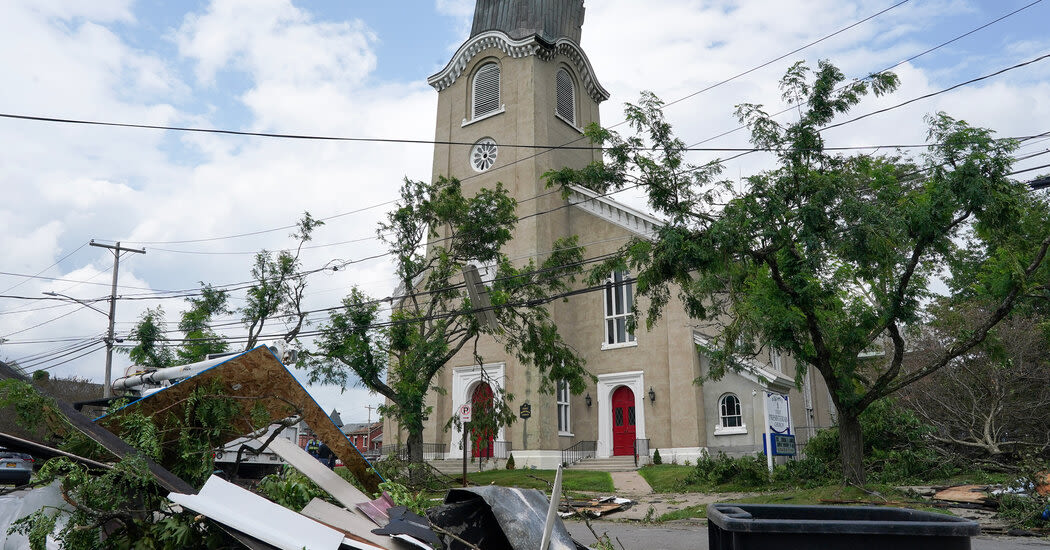
<path fill-rule="evenodd" d="M 584 0 L 478 0 L 470 38 L 502 30 L 513 40 L 536 36 L 552 44 L 561 38 L 580 43 Z"/>

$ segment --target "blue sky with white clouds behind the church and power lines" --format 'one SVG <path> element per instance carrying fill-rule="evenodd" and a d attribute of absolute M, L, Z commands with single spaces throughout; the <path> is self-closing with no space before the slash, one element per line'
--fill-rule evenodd
<path fill-rule="evenodd" d="M 612 99 L 605 124 L 644 89 L 686 97 L 779 57 L 896 2 L 591 0 L 583 47 Z M 831 59 L 848 76 L 892 65 L 1029 1 L 911 0 L 747 77 L 668 108 L 687 143 L 736 126 L 733 106 L 779 110 L 778 77 L 796 60 Z M 437 93 L 425 79 L 466 38 L 469 0 L 14 0 L 0 5 L 0 112 L 99 121 L 341 136 L 430 139 Z M 897 69 L 901 90 L 857 113 L 889 106 L 1050 52 L 1050 0 Z M 1002 135 L 1050 130 L 1050 61 L 830 131 L 831 145 L 920 143 L 922 117 L 945 110 Z M 747 145 L 742 132 L 710 142 Z M 1027 144 L 1038 152 L 1048 143 Z M 108 294 L 111 258 L 84 246 L 121 240 L 147 249 L 122 262 L 121 294 L 247 280 L 254 251 L 291 245 L 303 211 L 326 217 L 378 205 L 404 176 L 428 178 L 426 145 L 301 143 L 257 138 L 78 127 L 0 119 L 0 294 L 81 299 Z M 717 153 L 697 152 L 700 163 Z M 723 154 L 724 155 L 724 154 Z M 1045 164 L 1046 156 L 1027 161 Z M 1042 161 L 1041 161 L 1042 160 Z M 747 175 L 770 160 L 727 165 Z M 644 208 L 637 194 L 617 198 Z M 375 208 L 331 220 L 307 269 L 380 252 Z M 43 278 L 24 275 L 40 274 Z M 362 261 L 310 281 L 308 305 L 331 306 L 351 284 L 385 296 L 391 266 Z M 235 297 L 234 305 L 239 303 Z M 147 306 L 174 318 L 180 300 L 123 300 L 119 331 Z M 47 309 L 44 309 L 47 308 Z M 66 338 L 97 337 L 105 319 L 56 302 L 0 298 L 0 358 L 32 362 Z M 235 331 L 230 333 L 235 334 Z M 57 355 L 57 354 L 56 354 Z M 65 359 L 44 356 L 48 366 Z M 103 353 L 58 365 L 58 376 L 101 377 Z M 126 366 L 126 360 L 120 369 Z M 328 408 L 363 420 L 363 390 L 314 388 Z M 357 410 L 360 409 L 360 410 Z"/>

